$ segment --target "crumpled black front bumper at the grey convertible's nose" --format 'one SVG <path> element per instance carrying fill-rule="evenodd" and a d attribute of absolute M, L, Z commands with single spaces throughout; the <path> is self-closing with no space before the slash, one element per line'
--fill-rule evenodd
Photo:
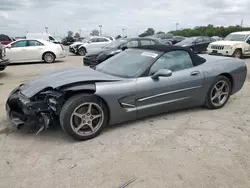
<path fill-rule="evenodd" d="M 23 96 L 20 87 L 15 88 L 9 95 L 5 108 L 7 117 L 12 122 L 12 127 L 20 129 L 23 126 L 40 128 L 48 127 L 50 118 L 48 116 L 49 107 L 43 101 L 31 102 L 29 98 Z"/>

